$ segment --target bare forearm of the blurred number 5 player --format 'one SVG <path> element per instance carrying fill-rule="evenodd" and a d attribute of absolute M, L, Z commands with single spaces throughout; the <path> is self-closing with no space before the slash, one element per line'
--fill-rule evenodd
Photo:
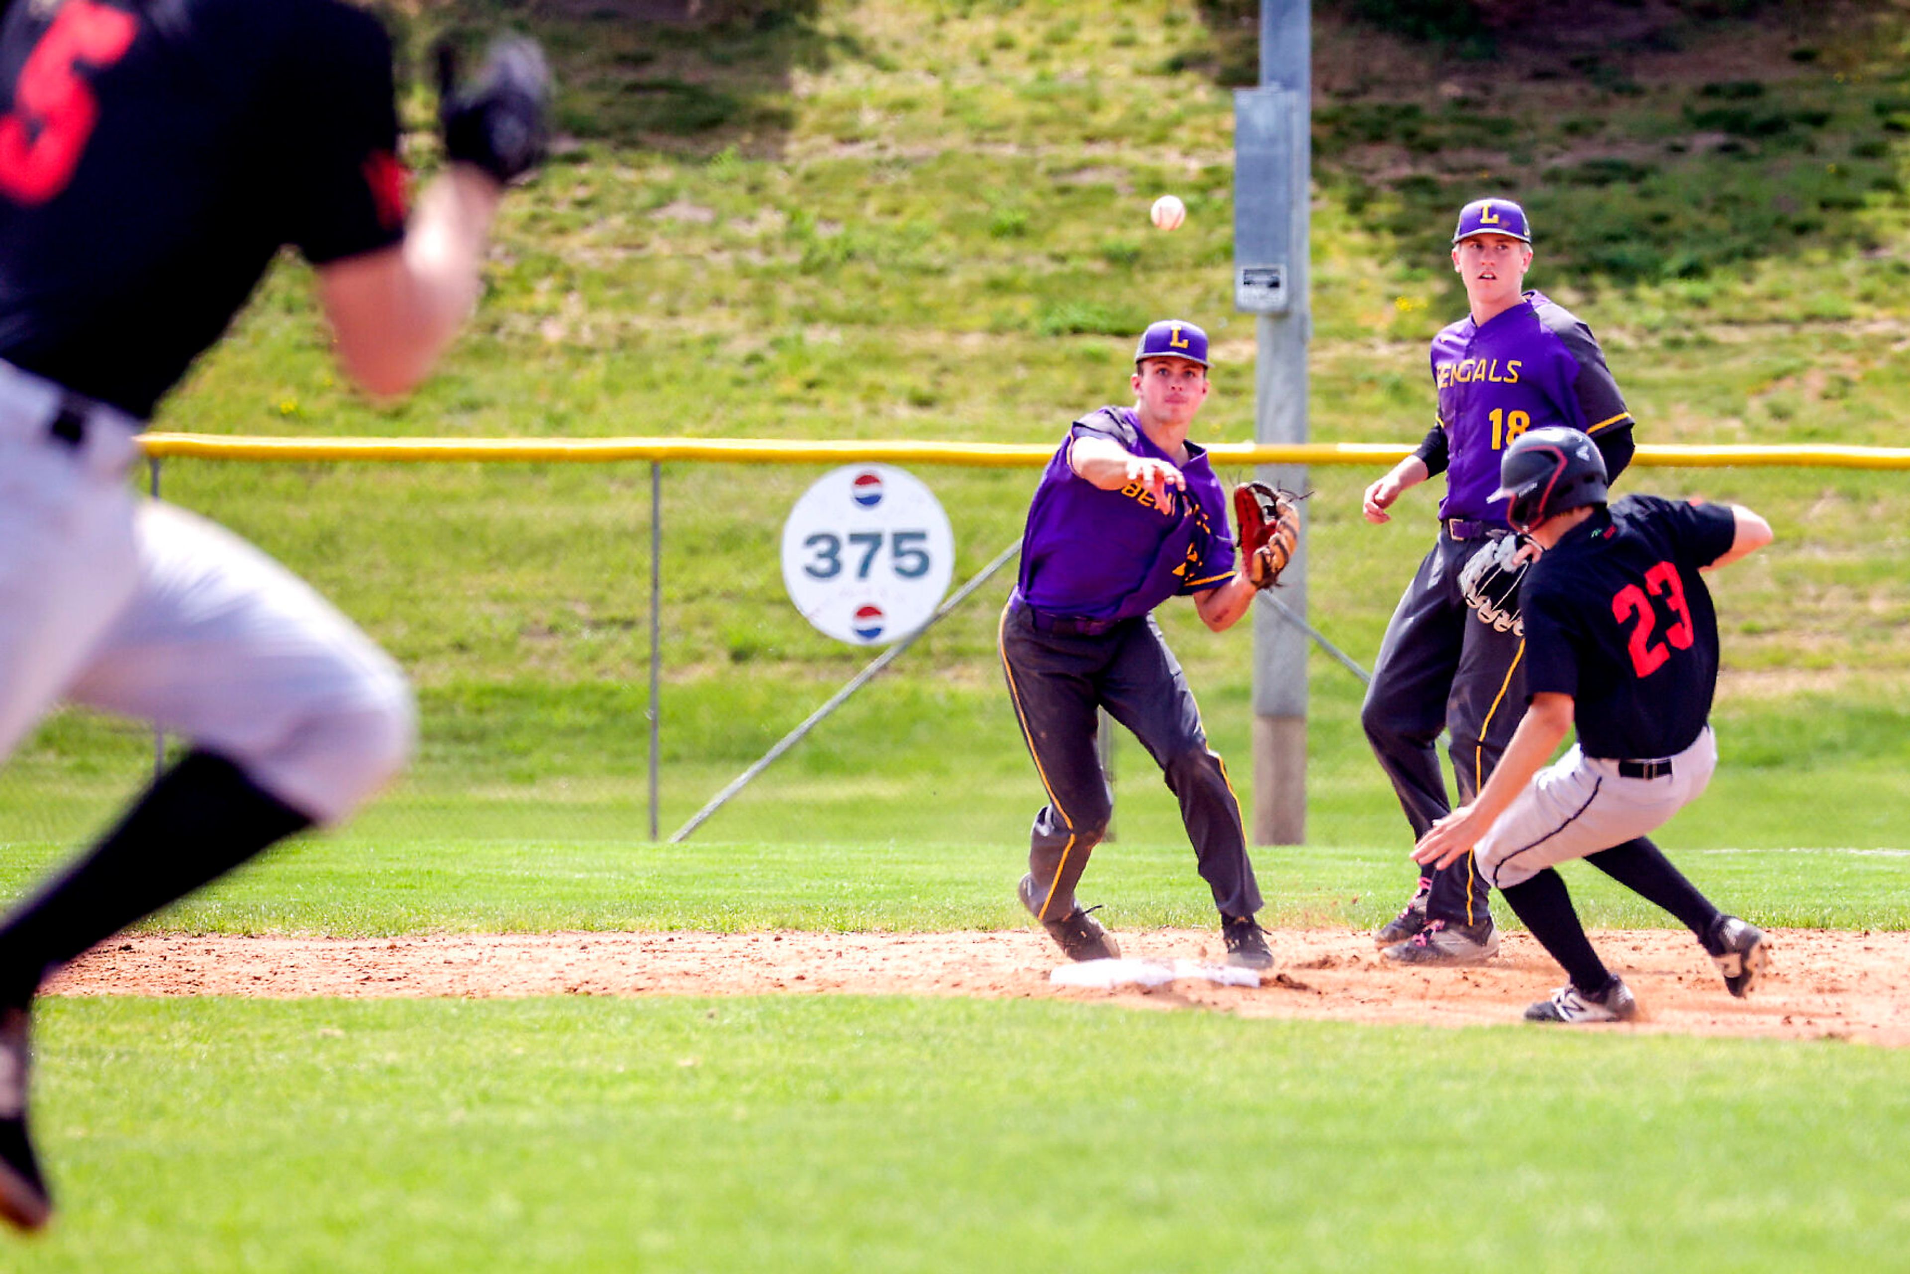
<path fill-rule="evenodd" d="M 319 271 L 338 359 L 367 392 L 411 392 L 470 317 L 500 197 L 495 180 L 453 164 L 418 197 L 403 244 Z"/>

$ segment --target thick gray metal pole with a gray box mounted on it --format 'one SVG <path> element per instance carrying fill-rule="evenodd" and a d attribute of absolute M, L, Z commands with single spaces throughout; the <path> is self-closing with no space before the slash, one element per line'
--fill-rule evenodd
<path fill-rule="evenodd" d="M 1261 0 L 1261 88 L 1234 96 L 1234 296 L 1255 313 L 1253 437 L 1305 443 L 1308 202 L 1312 180 L 1312 25 L 1308 0 Z M 1257 478 L 1306 489 L 1306 468 L 1261 466 Z M 1301 544 L 1280 590 L 1306 619 L 1306 506 Z M 1272 598 L 1253 621 L 1253 842 L 1306 839 L 1306 632 L 1282 623 Z"/>

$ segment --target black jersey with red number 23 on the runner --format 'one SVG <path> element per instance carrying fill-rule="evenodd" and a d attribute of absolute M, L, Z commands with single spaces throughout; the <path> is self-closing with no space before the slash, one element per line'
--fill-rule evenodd
<path fill-rule="evenodd" d="M 1587 756 L 1656 760 L 1698 739 L 1717 690 L 1717 611 L 1698 569 L 1734 539 L 1729 504 L 1627 495 L 1526 571 L 1526 695 L 1572 695 Z"/>

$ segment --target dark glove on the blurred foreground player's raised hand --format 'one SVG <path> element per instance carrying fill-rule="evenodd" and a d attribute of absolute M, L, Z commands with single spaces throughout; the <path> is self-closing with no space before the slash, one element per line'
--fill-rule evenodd
<path fill-rule="evenodd" d="M 535 40 L 499 36 L 478 76 L 456 86 L 458 59 L 437 46 L 437 122 L 445 155 L 483 168 L 499 183 L 523 176 L 544 159 L 550 113 L 550 67 Z"/>

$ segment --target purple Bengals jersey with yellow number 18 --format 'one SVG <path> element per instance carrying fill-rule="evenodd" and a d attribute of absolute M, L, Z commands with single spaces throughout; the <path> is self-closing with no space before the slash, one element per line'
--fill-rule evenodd
<path fill-rule="evenodd" d="M 1543 292 L 1480 327 L 1471 315 L 1432 338 L 1446 499 L 1440 518 L 1505 523 L 1499 453 L 1526 430 L 1564 424 L 1591 434 L 1631 428 L 1631 413 L 1597 336 Z M 1438 468 L 1421 449 L 1432 472 Z"/>

